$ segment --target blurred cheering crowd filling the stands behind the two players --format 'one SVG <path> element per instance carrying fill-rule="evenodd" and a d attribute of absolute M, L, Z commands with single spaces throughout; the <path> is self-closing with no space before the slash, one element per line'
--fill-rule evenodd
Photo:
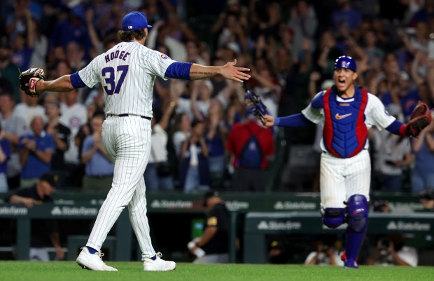
<path fill-rule="evenodd" d="M 3 0 L 0 191 L 34 184 L 48 170 L 59 174 L 59 188 L 109 190 L 104 89 L 37 100 L 20 90 L 18 75 L 43 67 L 52 79 L 83 69 L 118 43 L 130 11 L 146 13 L 153 26 L 146 46 L 173 60 L 237 59 L 251 69 L 244 85 L 221 77 L 155 80 L 148 191 L 265 190 L 282 139 L 246 109 L 246 89 L 273 116 L 297 113 L 330 86 L 339 55 L 356 60 L 358 85 L 402 121 L 419 100 L 434 105 L 434 0 Z M 283 153 L 294 144 L 316 146 L 315 131 L 285 130 Z M 370 142 L 374 189 L 434 188 L 434 125 L 412 141 L 372 129 Z"/>

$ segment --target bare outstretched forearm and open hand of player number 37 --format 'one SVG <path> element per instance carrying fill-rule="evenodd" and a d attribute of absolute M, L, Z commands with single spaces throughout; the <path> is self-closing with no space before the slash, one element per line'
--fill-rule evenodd
<path fill-rule="evenodd" d="M 250 71 L 250 69 L 246 67 L 235 67 L 235 64 L 237 64 L 237 60 L 228 62 L 221 67 L 209 67 L 201 64 L 193 64 L 190 68 L 190 79 L 196 80 L 221 75 L 227 79 L 238 82 L 248 80 L 250 75 L 244 73 L 243 71 Z"/>

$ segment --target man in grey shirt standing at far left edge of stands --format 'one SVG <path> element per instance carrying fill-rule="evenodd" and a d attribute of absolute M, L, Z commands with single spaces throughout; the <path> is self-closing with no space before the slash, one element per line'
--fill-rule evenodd
<path fill-rule="evenodd" d="M 16 189 L 21 186 L 21 165 L 18 153 L 18 142 L 21 135 L 27 132 L 27 125 L 23 118 L 13 114 L 15 100 L 6 92 L 0 94 L 0 123 L 3 128 L 3 137 L 11 146 L 10 160 L 8 161 L 8 186 L 9 189 Z"/>

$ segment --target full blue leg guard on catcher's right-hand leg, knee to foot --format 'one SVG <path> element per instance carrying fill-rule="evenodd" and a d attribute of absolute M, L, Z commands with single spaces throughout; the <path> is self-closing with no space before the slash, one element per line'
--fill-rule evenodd
<path fill-rule="evenodd" d="M 347 222 L 346 228 L 346 263 L 356 262 L 358 252 L 365 238 L 367 228 L 367 212 L 369 210 L 365 196 L 355 194 L 348 199 L 347 203 Z M 356 264 L 356 263 L 355 263 Z M 357 268 L 357 266 L 347 266 Z"/>

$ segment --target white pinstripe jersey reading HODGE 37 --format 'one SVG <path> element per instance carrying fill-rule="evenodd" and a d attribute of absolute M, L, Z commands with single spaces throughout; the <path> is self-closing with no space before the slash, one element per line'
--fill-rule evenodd
<path fill-rule="evenodd" d="M 128 41 L 95 57 L 78 75 L 87 87 L 102 84 L 107 114 L 152 117 L 155 77 L 165 78 L 167 67 L 174 62 L 137 41 Z"/>

